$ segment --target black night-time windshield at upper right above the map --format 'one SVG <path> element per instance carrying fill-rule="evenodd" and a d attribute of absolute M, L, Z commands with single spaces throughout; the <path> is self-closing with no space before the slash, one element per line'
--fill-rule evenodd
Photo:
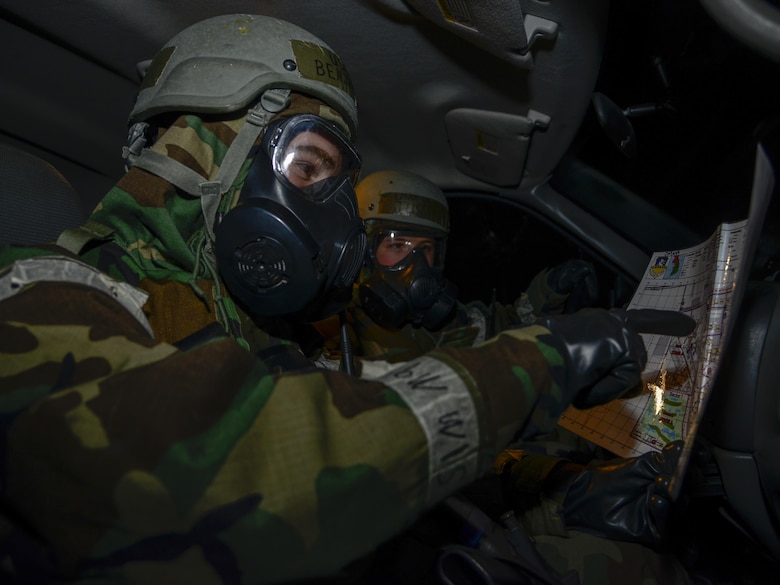
<path fill-rule="evenodd" d="M 747 217 L 757 140 L 780 160 L 780 85 L 769 81 L 777 64 L 702 11 L 691 2 L 613 3 L 595 88 L 613 108 L 599 115 L 591 106 L 551 179 L 648 252 L 692 245 Z M 626 125 L 632 148 L 610 131 Z M 778 259 L 779 216 L 775 202 L 762 275 Z"/>

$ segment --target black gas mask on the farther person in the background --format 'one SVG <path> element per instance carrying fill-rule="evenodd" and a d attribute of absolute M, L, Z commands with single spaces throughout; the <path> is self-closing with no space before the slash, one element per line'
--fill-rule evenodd
<path fill-rule="evenodd" d="M 382 327 L 438 329 L 457 300 L 457 288 L 442 273 L 443 259 L 443 236 L 379 229 L 371 238 L 370 274 L 358 287 L 366 314 Z"/>

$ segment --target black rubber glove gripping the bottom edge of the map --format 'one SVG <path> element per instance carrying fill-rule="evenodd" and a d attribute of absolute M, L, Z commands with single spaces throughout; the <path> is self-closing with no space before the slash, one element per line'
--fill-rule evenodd
<path fill-rule="evenodd" d="M 545 491 L 565 494 L 567 529 L 658 547 L 669 524 L 669 483 L 682 446 L 675 441 L 661 452 L 584 468 L 564 464 L 551 473 Z"/>

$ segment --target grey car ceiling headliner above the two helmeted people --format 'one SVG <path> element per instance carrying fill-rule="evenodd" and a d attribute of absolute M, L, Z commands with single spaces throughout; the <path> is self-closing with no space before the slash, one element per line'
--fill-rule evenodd
<path fill-rule="evenodd" d="M 533 10 L 559 27 L 554 40 L 533 44 L 530 69 L 452 34 L 402 0 L 4 0 L 0 137 L 113 181 L 122 173 L 136 64 L 193 22 L 257 13 L 310 30 L 345 62 L 358 96 L 364 174 L 404 168 L 444 188 L 528 190 L 549 175 L 585 115 L 608 6 L 606 0 L 526 5 L 526 14 Z M 506 23 L 490 24 L 487 35 L 492 26 Z M 521 185 L 499 189 L 456 168 L 444 121 L 454 108 L 550 117 L 549 127 L 533 135 Z"/>

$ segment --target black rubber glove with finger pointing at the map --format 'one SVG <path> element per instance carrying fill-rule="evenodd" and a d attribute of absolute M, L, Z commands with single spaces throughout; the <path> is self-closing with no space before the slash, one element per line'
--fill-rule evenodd
<path fill-rule="evenodd" d="M 686 336 L 696 327 L 683 313 L 655 309 L 582 309 L 536 323 L 551 332 L 540 341 L 563 357 L 553 376 L 563 398 L 577 408 L 604 404 L 641 383 L 647 351 L 639 333 Z"/>

